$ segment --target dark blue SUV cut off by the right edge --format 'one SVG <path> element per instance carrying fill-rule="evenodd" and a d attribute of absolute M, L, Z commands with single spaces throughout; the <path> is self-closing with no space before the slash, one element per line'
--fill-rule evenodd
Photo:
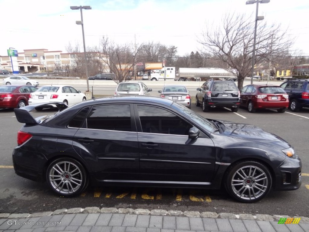
<path fill-rule="evenodd" d="M 280 86 L 289 94 L 290 110 L 298 112 L 302 107 L 309 107 L 309 80 L 288 80 Z"/>

